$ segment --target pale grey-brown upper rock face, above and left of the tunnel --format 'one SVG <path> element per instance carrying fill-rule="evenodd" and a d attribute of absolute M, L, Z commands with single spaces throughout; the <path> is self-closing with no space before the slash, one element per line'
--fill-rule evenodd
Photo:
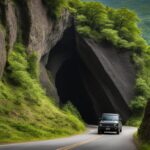
<path fill-rule="evenodd" d="M 30 15 L 29 50 L 38 51 L 39 57 L 43 57 L 61 39 L 64 30 L 70 25 L 68 11 L 62 13 L 58 22 L 50 20 L 41 0 L 28 1 Z"/>

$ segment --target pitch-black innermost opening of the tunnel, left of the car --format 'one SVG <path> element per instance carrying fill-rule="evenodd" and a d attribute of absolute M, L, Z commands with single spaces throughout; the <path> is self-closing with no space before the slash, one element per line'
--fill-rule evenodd
<path fill-rule="evenodd" d="M 55 79 L 61 103 L 71 101 L 79 110 L 82 118 L 87 123 L 95 123 L 97 116 L 88 94 L 86 93 L 76 58 L 66 61 L 58 71 Z"/>

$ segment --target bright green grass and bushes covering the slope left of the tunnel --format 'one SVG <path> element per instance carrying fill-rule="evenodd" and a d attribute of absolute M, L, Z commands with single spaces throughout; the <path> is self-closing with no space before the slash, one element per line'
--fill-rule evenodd
<path fill-rule="evenodd" d="M 67 136 L 84 124 L 66 107 L 57 108 L 39 84 L 37 55 L 16 44 L 0 81 L 0 143 Z M 73 108 L 73 106 L 72 106 Z"/>

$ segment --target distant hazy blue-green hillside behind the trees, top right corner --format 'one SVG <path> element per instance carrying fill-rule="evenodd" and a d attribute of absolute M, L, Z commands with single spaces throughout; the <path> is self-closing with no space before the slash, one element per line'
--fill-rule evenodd
<path fill-rule="evenodd" d="M 139 23 L 143 37 L 150 43 L 150 1 L 149 0 L 97 0 L 114 8 L 129 8 L 136 11 L 141 19 Z"/>

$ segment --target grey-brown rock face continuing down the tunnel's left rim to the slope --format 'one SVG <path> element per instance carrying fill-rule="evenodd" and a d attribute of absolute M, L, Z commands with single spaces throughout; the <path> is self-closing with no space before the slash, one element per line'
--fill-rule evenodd
<path fill-rule="evenodd" d="M 47 55 L 56 43 L 62 38 L 64 30 L 70 26 L 71 18 L 68 11 L 63 11 L 59 21 L 52 21 L 47 16 L 47 11 L 41 0 L 27 1 L 29 11 L 28 18 L 30 19 L 30 31 L 28 39 L 29 52 L 36 51 L 40 61 L 40 81 L 43 88 L 46 89 L 47 95 L 55 99 L 58 103 L 59 98 L 55 83 L 52 78 L 49 79 L 49 74 L 45 69 L 47 64 Z"/>

